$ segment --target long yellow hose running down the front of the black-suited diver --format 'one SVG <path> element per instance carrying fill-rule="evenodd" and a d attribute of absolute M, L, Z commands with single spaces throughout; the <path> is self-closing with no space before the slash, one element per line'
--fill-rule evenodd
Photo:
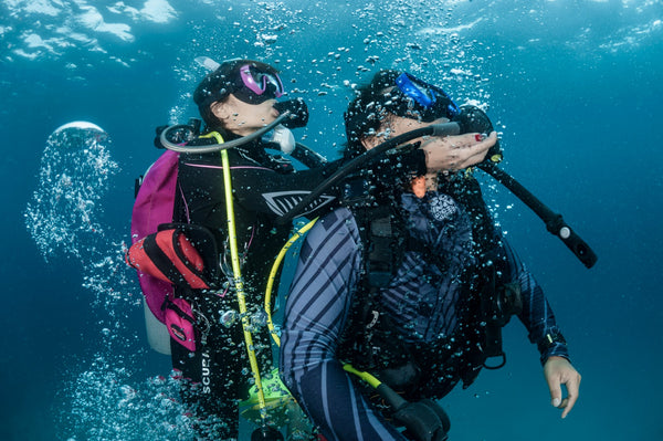
<path fill-rule="evenodd" d="M 204 137 L 214 137 L 218 144 L 223 144 L 223 138 L 215 132 L 212 132 L 211 134 L 206 135 Z M 232 181 L 230 179 L 230 162 L 228 160 L 227 150 L 221 150 L 221 165 L 223 167 L 223 186 L 225 188 L 225 212 L 228 217 L 228 241 L 230 243 L 230 255 L 232 261 L 234 287 L 238 295 L 238 303 L 240 306 L 240 316 L 242 317 L 242 329 L 244 330 L 244 343 L 246 345 L 246 353 L 249 354 L 249 363 L 251 364 L 251 371 L 253 372 L 253 380 L 257 390 L 260 414 L 263 424 L 266 424 L 267 405 L 265 402 L 265 395 L 262 388 L 262 380 L 260 378 L 260 369 L 257 367 L 257 360 L 255 358 L 255 349 L 253 346 L 253 336 L 251 335 L 250 329 L 249 314 L 246 313 L 246 297 L 244 294 L 244 283 L 242 282 L 242 270 L 240 267 L 240 253 L 238 250 L 238 235 L 232 199 Z"/>

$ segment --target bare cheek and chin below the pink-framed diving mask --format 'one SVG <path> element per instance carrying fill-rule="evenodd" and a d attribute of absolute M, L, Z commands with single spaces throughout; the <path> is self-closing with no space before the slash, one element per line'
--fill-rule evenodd
<path fill-rule="evenodd" d="M 230 94 L 222 102 L 212 104 L 212 112 L 223 123 L 223 128 L 236 135 L 246 136 L 278 117 L 278 111 L 274 108 L 274 103 L 276 99 L 249 104 Z"/>

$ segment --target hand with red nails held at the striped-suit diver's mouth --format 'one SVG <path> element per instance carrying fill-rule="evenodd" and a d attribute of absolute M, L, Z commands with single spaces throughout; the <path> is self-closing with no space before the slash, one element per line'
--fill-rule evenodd
<path fill-rule="evenodd" d="M 421 143 L 429 172 L 455 171 L 481 162 L 497 141 L 492 132 L 485 139 L 481 134 L 427 137 Z"/>

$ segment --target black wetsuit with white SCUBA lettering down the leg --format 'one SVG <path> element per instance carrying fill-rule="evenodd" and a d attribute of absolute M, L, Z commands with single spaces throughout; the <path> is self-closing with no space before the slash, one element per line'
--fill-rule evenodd
<path fill-rule="evenodd" d="M 274 258 L 291 232 L 291 225 L 274 222 L 276 217 L 320 183 L 339 162 L 293 171 L 267 156 L 261 144 L 231 148 L 228 157 L 246 303 L 249 312 L 256 313 L 263 304 Z M 180 155 L 177 191 L 173 220 L 203 225 L 212 232 L 221 260 L 219 282 L 232 280 L 221 154 Z M 332 193 L 325 193 L 305 214 L 323 212 L 334 200 Z M 176 296 L 189 301 L 196 312 L 200 340 L 197 350 L 190 353 L 172 339 L 171 350 L 173 368 L 188 380 L 185 397 L 193 407 L 199 433 L 206 439 L 235 439 L 238 400 L 248 398 L 252 379 L 235 293 L 178 290 Z M 235 319 L 229 319 L 233 315 Z M 254 329 L 253 337 L 264 375 L 272 364 L 266 326 Z"/>

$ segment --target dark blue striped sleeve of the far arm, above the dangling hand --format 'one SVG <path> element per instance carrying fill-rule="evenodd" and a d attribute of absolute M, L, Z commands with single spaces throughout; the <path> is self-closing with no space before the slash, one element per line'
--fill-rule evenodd
<path fill-rule="evenodd" d="M 555 314 L 544 291 L 504 238 L 502 243 L 511 280 L 517 281 L 520 285 L 523 311 L 518 318 L 527 328 L 529 342 L 537 345 L 541 365 L 551 356 L 569 359 L 568 347 L 564 339 L 549 340 L 549 336 L 561 336 L 561 330 L 557 326 Z"/>

